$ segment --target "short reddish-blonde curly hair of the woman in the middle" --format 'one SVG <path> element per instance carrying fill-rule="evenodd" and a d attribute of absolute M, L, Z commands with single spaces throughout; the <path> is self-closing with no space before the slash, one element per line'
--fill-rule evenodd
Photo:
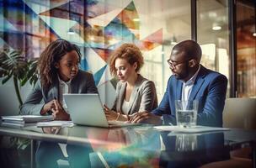
<path fill-rule="evenodd" d="M 141 66 L 144 64 L 141 50 L 136 45 L 125 43 L 117 48 L 110 57 L 109 70 L 112 76 L 116 76 L 115 60 L 117 58 L 127 60 L 130 65 L 137 63 L 136 72 L 140 71 Z"/>

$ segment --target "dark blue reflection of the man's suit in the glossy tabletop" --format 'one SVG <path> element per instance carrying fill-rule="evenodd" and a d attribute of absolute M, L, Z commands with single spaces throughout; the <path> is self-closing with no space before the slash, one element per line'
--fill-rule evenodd
<path fill-rule="evenodd" d="M 223 133 L 161 134 L 165 150 L 160 167 L 198 167 L 212 161 L 229 159 Z"/>

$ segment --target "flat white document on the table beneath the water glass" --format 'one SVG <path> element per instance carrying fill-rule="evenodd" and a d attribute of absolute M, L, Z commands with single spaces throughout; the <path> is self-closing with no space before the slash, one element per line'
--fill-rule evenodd
<path fill-rule="evenodd" d="M 172 132 L 179 132 L 179 133 L 203 133 L 203 132 L 211 132 L 211 131 L 228 131 L 230 129 L 221 128 L 221 127 L 206 127 L 197 125 L 191 128 L 182 128 L 176 125 L 163 125 L 163 126 L 155 126 L 155 129 L 161 131 L 172 131 Z"/>

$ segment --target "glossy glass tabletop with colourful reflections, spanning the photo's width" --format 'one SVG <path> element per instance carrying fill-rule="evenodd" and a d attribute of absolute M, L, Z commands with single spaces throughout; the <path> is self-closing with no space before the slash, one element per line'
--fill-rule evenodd
<path fill-rule="evenodd" d="M 14 131 L 10 129 L 9 132 L 11 130 Z M 91 163 L 94 160 L 93 165 L 96 167 L 104 167 L 104 164 L 109 167 L 196 167 L 213 161 L 228 160 L 231 150 L 246 145 L 253 146 L 256 140 L 255 132 L 250 130 L 182 134 L 159 131 L 152 125 L 117 129 L 79 125 L 65 128 L 32 127 L 17 131 L 17 135 L 20 136 L 23 131 L 28 134 L 27 138 L 40 140 L 40 144 L 45 143 L 45 146 L 47 143 L 62 143 L 67 144 L 67 153 L 69 149 L 76 149 L 72 154 L 81 154 L 83 151 L 83 154 L 90 156 Z M 3 128 L 0 128 L 1 132 Z M 81 155 L 75 157 L 80 158 Z"/>

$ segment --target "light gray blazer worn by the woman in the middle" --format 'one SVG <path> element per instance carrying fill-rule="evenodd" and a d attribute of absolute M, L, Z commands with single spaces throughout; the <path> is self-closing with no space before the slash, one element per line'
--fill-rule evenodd
<path fill-rule="evenodd" d="M 125 99 L 126 82 L 119 81 L 116 85 L 115 102 L 112 110 L 116 112 L 121 111 L 122 104 Z M 153 81 L 148 81 L 143 76 L 139 75 L 128 106 L 128 114 L 148 111 L 151 112 L 154 108 L 157 108 L 157 93 L 156 87 Z"/>

